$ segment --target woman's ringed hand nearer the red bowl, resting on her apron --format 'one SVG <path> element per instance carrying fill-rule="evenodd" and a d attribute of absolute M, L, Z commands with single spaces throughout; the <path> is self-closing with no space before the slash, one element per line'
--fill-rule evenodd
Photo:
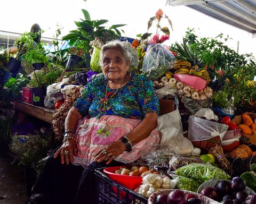
<path fill-rule="evenodd" d="M 124 143 L 121 140 L 117 140 L 115 142 L 111 142 L 105 147 L 95 151 L 92 156 L 94 157 L 94 161 L 103 162 L 108 159 L 106 164 L 109 164 L 114 160 L 117 156 L 121 155 L 126 149 Z"/>

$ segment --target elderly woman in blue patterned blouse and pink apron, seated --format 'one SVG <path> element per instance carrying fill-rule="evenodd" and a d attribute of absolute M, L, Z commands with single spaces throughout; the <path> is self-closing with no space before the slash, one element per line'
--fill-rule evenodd
<path fill-rule="evenodd" d="M 95 168 L 131 163 L 159 142 L 158 99 L 151 81 L 129 71 L 134 55 L 127 42 L 102 47 L 103 74 L 69 110 L 63 145 L 47 160 L 30 203 L 94 203 Z"/>

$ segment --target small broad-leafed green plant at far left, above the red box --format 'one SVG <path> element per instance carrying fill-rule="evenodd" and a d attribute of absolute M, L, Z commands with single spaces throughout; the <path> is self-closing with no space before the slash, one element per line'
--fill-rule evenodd
<path fill-rule="evenodd" d="M 12 93 L 14 99 L 19 98 L 21 87 L 25 87 L 28 83 L 28 79 L 23 77 L 23 74 L 18 73 L 15 78 L 10 78 L 4 84 L 4 87 L 7 87 L 7 92 Z"/>

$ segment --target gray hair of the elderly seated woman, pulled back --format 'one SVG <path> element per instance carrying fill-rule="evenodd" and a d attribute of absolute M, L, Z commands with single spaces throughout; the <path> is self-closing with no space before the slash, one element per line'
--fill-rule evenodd
<path fill-rule="evenodd" d="M 107 44 L 103 45 L 100 51 L 99 64 L 103 67 L 103 53 L 108 49 L 117 49 L 121 51 L 125 62 L 130 60 L 131 66 L 138 66 L 138 55 L 137 51 L 131 46 L 128 41 L 111 40 Z"/>

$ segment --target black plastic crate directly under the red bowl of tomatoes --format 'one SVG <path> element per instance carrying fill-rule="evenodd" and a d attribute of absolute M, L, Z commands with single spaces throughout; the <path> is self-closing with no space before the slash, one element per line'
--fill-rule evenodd
<path fill-rule="evenodd" d="M 148 199 L 140 194 L 126 189 L 109 179 L 102 171 L 95 169 L 97 204 L 147 204 Z"/>

